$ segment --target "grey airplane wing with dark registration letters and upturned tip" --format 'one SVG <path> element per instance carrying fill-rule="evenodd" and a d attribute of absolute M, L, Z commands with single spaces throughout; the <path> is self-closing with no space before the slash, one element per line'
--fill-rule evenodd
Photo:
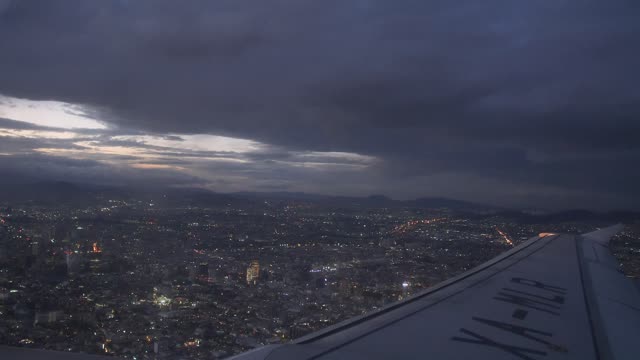
<path fill-rule="evenodd" d="M 640 359 L 640 291 L 609 239 L 540 234 L 405 301 L 235 360 Z"/>

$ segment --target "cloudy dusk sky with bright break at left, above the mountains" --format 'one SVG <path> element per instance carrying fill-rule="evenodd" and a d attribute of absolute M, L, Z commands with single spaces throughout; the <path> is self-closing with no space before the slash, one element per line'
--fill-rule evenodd
<path fill-rule="evenodd" d="M 0 0 L 0 182 L 640 210 L 637 0 Z"/>

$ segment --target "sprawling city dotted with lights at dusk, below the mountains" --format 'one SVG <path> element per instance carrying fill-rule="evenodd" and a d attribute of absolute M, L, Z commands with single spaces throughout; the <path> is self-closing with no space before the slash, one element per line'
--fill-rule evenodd
<path fill-rule="evenodd" d="M 227 358 L 382 309 L 532 237 L 614 221 L 257 200 L 0 201 L 0 344 Z M 629 277 L 640 275 L 637 219 L 611 243 Z"/>

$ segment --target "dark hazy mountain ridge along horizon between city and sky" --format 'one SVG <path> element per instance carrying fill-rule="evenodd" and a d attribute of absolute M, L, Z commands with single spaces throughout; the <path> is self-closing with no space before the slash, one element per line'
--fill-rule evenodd
<path fill-rule="evenodd" d="M 0 186 L 0 206 L 10 203 L 32 203 L 45 206 L 90 206 L 105 199 L 153 201 L 166 206 L 248 206 L 264 201 L 300 201 L 344 208 L 415 208 L 447 209 L 468 217 L 500 216 L 518 223 L 570 222 L 570 221 L 638 221 L 640 212 L 566 210 L 558 212 L 528 213 L 492 205 L 449 199 L 422 197 L 414 200 L 395 200 L 385 195 L 367 197 L 331 196 L 303 192 L 236 192 L 216 193 L 200 188 L 126 188 L 118 186 L 76 184 L 64 181 L 5 183 Z"/>

